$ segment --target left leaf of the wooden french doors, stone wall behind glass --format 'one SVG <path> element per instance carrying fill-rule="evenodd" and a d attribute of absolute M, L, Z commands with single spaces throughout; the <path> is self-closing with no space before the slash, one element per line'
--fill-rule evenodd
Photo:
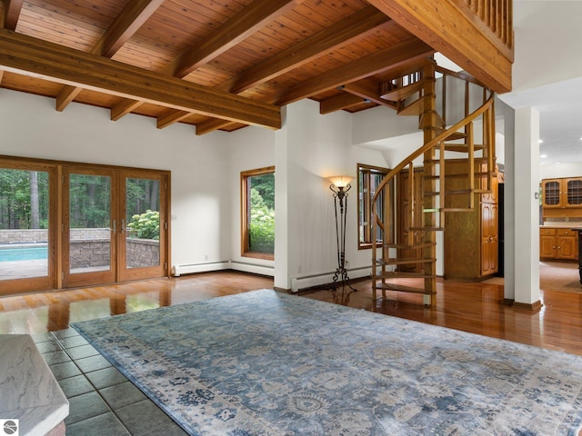
<path fill-rule="evenodd" d="M 113 174 L 65 176 L 65 285 L 115 281 Z"/>

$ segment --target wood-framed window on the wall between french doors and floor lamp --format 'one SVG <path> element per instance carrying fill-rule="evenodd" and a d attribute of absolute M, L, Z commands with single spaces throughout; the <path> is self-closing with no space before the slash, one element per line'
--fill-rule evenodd
<path fill-rule="evenodd" d="M 240 173 L 242 255 L 275 259 L 275 167 Z"/>

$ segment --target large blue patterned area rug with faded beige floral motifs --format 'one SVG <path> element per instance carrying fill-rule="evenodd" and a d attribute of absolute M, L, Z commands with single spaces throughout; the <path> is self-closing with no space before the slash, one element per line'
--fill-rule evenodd
<path fill-rule="evenodd" d="M 78 322 L 190 434 L 577 435 L 582 358 L 260 290 Z"/>

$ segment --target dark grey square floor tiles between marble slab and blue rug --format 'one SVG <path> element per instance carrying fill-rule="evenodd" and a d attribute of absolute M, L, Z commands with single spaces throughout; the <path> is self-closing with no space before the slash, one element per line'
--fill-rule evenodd
<path fill-rule="evenodd" d="M 73 328 L 32 336 L 69 400 L 66 436 L 186 435 Z"/>

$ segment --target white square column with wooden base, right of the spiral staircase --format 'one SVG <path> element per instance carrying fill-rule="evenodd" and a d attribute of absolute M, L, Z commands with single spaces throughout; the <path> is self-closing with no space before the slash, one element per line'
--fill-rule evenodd
<path fill-rule="evenodd" d="M 539 113 L 516 110 L 515 138 L 515 302 L 530 310 L 539 300 Z"/>

